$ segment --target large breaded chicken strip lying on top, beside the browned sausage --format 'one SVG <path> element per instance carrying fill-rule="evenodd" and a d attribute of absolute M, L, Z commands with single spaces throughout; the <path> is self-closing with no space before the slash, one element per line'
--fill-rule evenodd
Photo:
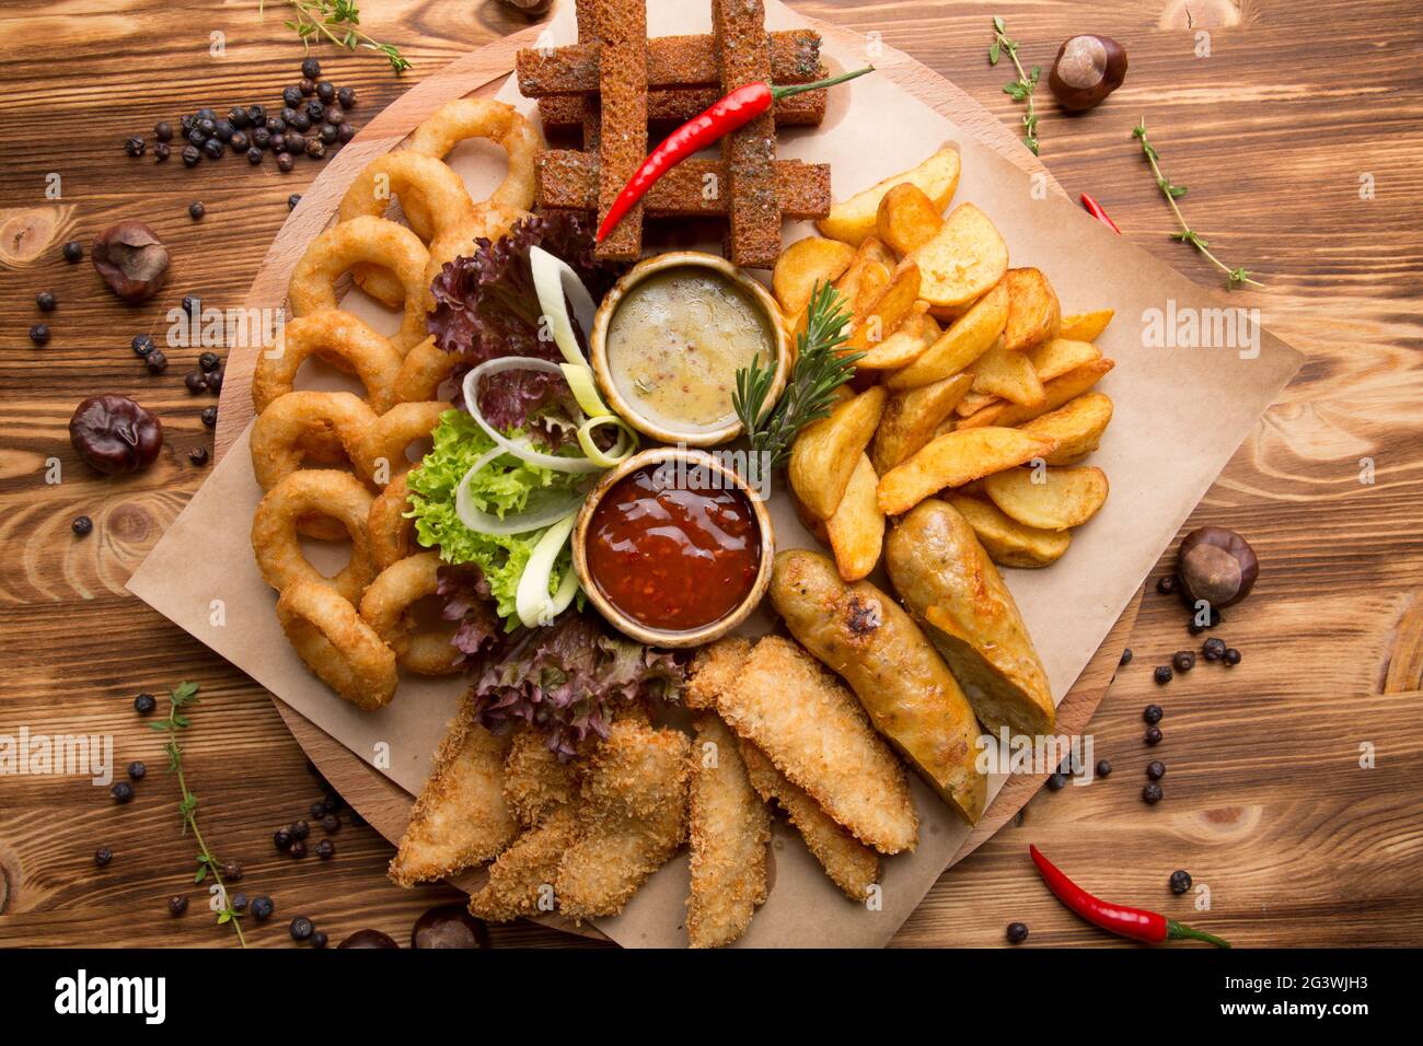
<path fill-rule="evenodd" d="M 800 645 L 758 642 L 717 693 L 717 712 L 861 842 L 885 854 L 914 850 L 919 817 L 904 766 L 855 694 Z"/>

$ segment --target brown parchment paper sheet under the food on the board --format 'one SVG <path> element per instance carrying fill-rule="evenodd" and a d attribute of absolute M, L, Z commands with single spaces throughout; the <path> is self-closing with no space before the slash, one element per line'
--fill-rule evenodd
<path fill-rule="evenodd" d="M 706 0 L 657 0 L 649 9 L 652 36 L 710 30 Z M 767 23 L 788 28 L 800 20 L 771 0 Z M 558 44 L 575 40 L 572 4 L 562 6 L 549 33 Z M 865 63 L 864 54 L 847 53 L 830 41 L 827 54 L 845 68 Z M 519 98 L 512 81 L 498 97 L 524 111 L 534 110 Z M 1046 192 L 1040 179 L 885 78 L 869 75 L 835 88 L 825 125 L 784 134 L 780 155 L 831 162 L 835 196 L 844 198 L 912 167 L 945 142 L 956 145 L 963 158 L 953 202 L 972 201 L 993 219 L 1013 265 L 1047 273 L 1064 313 L 1103 306 L 1117 312 L 1097 342 L 1117 361 L 1100 384 L 1111 396 L 1116 416 L 1101 450 L 1090 460 L 1106 470 L 1111 495 L 1096 518 L 1073 532 L 1070 551 L 1056 565 L 1005 571 L 1060 702 L 1302 357 L 1266 332 L 1258 332 L 1258 352 L 1148 347 L 1143 332 L 1150 310 L 1174 309 L 1180 316 L 1235 303 L 1224 292 L 1195 286 Z M 490 159 L 478 145 L 461 147 L 453 158 L 477 199 L 502 176 Z M 787 228 L 787 242 L 808 232 L 808 225 Z M 359 292 L 346 299 L 344 307 L 380 329 L 396 326 L 393 316 Z M 132 576 L 129 589 L 407 791 L 418 793 L 462 682 L 406 677 L 388 707 L 363 713 L 309 675 L 277 626 L 276 593 L 262 582 L 253 562 L 249 528 L 259 498 L 243 435 Z M 784 494 L 774 498 L 773 517 L 780 548 L 815 546 Z M 747 625 L 753 633 L 770 628 L 764 612 Z M 990 797 L 1000 786 L 1002 780 L 992 783 Z M 794 831 L 777 827 L 774 887 L 739 944 L 887 942 L 969 834 L 916 777 L 914 796 L 922 823 L 919 847 L 914 854 L 885 860 L 882 904 L 874 911 L 847 901 Z M 602 919 L 598 928 L 626 946 L 682 946 L 686 895 L 686 857 L 679 855 L 652 877 L 620 916 Z"/>

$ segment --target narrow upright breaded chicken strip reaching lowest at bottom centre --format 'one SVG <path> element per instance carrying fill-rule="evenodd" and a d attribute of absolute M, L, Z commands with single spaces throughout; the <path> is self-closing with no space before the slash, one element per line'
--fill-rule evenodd
<path fill-rule="evenodd" d="M 697 716 L 689 820 L 687 942 L 721 948 L 746 932 L 766 901 L 771 818 L 746 776 L 736 734 L 712 713 Z"/>

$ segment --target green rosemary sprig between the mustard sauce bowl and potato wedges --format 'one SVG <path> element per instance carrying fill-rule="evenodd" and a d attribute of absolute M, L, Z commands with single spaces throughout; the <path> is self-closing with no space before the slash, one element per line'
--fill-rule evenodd
<path fill-rule="evenodd" d="M 770 410 L 767 397 L 776 367 L 763 367 L 757 353 L 750 367 L 736 371 L 731 406 L 746 427 L 751 451 L 768 454 L 771 468 L 785 464 L 801 428 L 830 416 L 835 390 L 855 376 L 855 361 L 864 353 L 835 352 L 848 337 L 847 323 L 850 313 L 840 292 L 830 283 L 817 283 L 810 296 L 805 330 L 795 339 L 795 366 L 791 367 L 785 394 Z"/>

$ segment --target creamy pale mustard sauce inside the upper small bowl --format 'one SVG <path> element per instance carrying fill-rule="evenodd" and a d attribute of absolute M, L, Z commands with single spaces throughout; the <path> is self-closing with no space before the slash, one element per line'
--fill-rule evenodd
<path fill-rule="evenodd" d="M 776 342 L 753 297 L 714 269 L 683 265 L 642 280 L 608 324 L 608 370 L 649 421 L 696 431 L 731 421 L 736 371 Z"/>

